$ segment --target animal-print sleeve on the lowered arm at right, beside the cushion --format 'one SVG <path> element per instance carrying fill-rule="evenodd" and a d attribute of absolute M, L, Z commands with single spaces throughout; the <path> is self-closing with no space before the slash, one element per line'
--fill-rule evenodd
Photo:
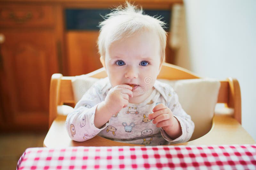
<path fill-rule="evenodd" d="M 191 117 L 182 109 L 181 104 L 179 103 L 178 95 L 173 90 L 171 95 L 169 96 L 169 99 L 170 101 L 167 103 L 166 106 L 172 110 L 173 116 L 179 121 L 182 135 L 176 139 L 171 139 L 161 128 L 162 136 L 170 143 L 187 142 L 194 132 L 195 124 L 191 120 Z"/>

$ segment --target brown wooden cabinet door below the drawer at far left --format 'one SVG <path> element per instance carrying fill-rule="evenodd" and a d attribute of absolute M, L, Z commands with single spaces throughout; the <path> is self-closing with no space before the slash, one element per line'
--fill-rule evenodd
<path fill-rule="evenodd" d="M 47 129 L 51 75 L 58 72 L 52 31 L 0 30 L 1 129 Z"/>

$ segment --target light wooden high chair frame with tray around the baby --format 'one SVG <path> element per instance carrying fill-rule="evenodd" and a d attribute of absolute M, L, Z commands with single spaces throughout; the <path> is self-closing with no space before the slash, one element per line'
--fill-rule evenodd
<path fill-rule="evenodd" d="M 170 74 L 172 73 L 172 74 Z M 93 71 L 87 76 L 104 78 L 107 76 L 104 68 Z M 200 78 L 192 72 L 181 67 L 164 63 L 158 79 L 181 80 Z M 75 103 L 71 80 L 74 77 L 64 77 L 62 74 L 53 74 L 50 87 L 49 131 L 44 139 L 44 146 L 50 148 L 67 146 L 122 146 L 133 145 L 111 141 L 100 136 L 84 141 L 76 142 L 69 138 L 66 127 L 66 115 L 58 113 L 58 106 L 64 103 Z M 239 83 L 236 79 L 228 78 L 220 81 L 218 103 L 225 103 L 226 107 L 234 110 L 233 114 L 214 114 L 212 128 L 204 136 L 186 143 L 176 145 L 232 145 L 254 144 L 253 138 L 241 126 L 241 94 Z M 64 112 L 69 112 L 67 107 L 62 107 Z M 59 111 L 60 112 L 60 111 Z M 143 146 L 143 145 L 140 145 Z"/>

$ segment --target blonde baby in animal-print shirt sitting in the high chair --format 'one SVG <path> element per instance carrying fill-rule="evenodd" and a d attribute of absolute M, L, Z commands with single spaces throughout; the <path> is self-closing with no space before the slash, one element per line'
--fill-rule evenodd
<path fill-rule="evenodd" d="M 164 22 L 126 3 L 100 23 L 100 61 L 108 77 L 97 81 L 67 117 L 71 139 L 95 135 L 141 145 L 186 142 L 191 117 L 167 84 L 156 80 L 165 61 Z"/>

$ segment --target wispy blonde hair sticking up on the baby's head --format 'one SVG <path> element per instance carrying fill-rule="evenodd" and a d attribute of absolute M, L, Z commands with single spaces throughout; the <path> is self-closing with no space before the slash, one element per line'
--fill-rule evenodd
<path fill-rule="evenodd" d="M 156 32 L 160 40 L 161 62 L 165 61 L 166 35 L 162 26 L 165 26 L 159 17 L 154 18 L 144 15 L 142 7 L 140 9 L 129 2 L 126 7 L 118 6 L 109 14 L 103 17 L 105 20 L 100 22 L 100 35 L 98 37 L 98 48 L 100 56 L 105 57 L 106 49 L 116 40 L 127 38 L 134 33 L 148 30 Z"/>

